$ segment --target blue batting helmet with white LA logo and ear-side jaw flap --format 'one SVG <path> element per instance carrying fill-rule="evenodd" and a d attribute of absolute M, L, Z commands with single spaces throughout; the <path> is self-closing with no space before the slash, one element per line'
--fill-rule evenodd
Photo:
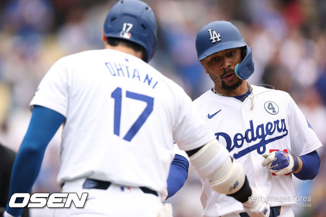
<path fill-rule="evenodd" d="M 240 31 L 233 24 L 227 21 L 209 23 L 198 32 L 196 38 L 196 51 L 199 61 L 219 51 L 241 47 L 246 47 L 246 56 L 235 67 L 235 74 L 246 80 L 254 72 L 252 52 L 243 40 Z"/>

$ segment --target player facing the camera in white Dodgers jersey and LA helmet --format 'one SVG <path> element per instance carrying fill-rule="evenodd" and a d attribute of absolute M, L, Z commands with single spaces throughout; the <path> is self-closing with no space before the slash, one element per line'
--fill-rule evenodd
<path fill-rule="evenodd" d="M 318 173 L 316 134 L 288 93 L 246 82 L 254 71 L 251 48 L 230 22 L 204 26 L 196 50 L 214 87 L 194 104 L 244 166 L 250 185 L 267 196 L 262 199 L 271 206 L 270 216 L 293 216 L 292 175 L 312 179 Z M 204 216 L 248 216 L 239 201 L 214 191 L 206 177 L 201 182 Z"/>

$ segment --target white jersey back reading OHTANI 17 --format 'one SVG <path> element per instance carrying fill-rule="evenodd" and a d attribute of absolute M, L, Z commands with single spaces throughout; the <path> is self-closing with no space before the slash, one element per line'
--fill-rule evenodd
<path fill-rule="evenodd" d="M 66 117 L 59 185 L 88 177 L 164 193 L 173 141 L 191 150 L 214 139 L 180 86 L 139 58 L 110 49 L 61 58 L 30 105 Z"/>

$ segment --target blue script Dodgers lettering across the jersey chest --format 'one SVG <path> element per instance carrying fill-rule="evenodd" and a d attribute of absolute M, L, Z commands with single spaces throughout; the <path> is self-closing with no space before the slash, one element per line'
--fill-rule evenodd
<path fill-rule="evenodd" d="M 260 124 L 254 129 L 252 120 L 249 121 L 250 128 L 247 129 L 243 134 L 236 133 L 233 137 L 233 144 L 231 137 L 224 132 L 215 133 L 216 138 L 219 140 L 220 136 L 225 139 L 226 142 L 226 149 L 228 151 L 232 151 L 234 148 L 241 148 L 244 141 L 247 143 L 250 143 L 252 141 L 256 141 L 257 139 L 260 139 L 260 141 L 254 145 L 249 146 L 248 148 L 245 148 L 238 153 L 234 154 L 233 157 L 235 159 L 242 157 L 246 154 L 248 154 L 251 151 L 257 150 L 258 154 L 263 154 L 266 151 L 266 145 L 270 142 L 273 142 L 275 140 L 281 139 L 284 136 L 287 135 L 288 130 L 286 129 L 285 125 L 285 119 L 276 120 L 273 123 L 267 122 L 266 125 Z M 266 139 L 267 135 L 273 135 L 275 130 L 279 133 L 283 133 L 280 136 L 275 136 L 270 139 Z"/>

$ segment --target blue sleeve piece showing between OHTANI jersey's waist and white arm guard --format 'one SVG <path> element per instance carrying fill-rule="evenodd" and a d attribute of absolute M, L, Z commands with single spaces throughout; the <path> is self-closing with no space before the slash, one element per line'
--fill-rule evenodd
<path fill-rule="evenodd" d="M 182 186 L 188 177 L 189 161 L 186 157 L 179 154 L 175 155 L 171 166 L 168 177 L 168 197 L 172 197 Z"/>

